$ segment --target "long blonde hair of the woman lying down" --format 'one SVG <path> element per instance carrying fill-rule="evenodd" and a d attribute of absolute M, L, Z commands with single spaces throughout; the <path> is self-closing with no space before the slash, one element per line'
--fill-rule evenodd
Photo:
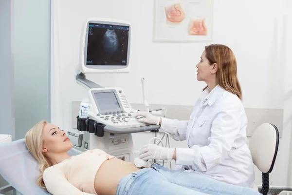
<path fill-rule="evenodd" d="M 47 123 L 48 122 L 45 120 L 38 122 L 25 134 L 24 137 L 26 147 L 38 163 L 38 170 L 40 171 L 40 174 L 37 177 L 37 185 L 44 189 L 46 186 L 43 180 L 43 173 L 46 168 L 52 166 L 52 163 L 42 153 L 43 129 Z"/>

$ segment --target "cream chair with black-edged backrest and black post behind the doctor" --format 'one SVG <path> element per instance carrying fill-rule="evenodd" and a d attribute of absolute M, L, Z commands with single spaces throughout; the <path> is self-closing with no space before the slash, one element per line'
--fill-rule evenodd
<path fill-rule="evenodd" d="M 279 147 L 279 132 L 275 125 L 263 123 L 256 128 L 251 137 L 249 148 L 256 167 L 262 172 L 260 193 L 267 195 L 270 188 L 269 174 L 273 171 Z M 256 183 L 253 188 L 258 191 Z"/>

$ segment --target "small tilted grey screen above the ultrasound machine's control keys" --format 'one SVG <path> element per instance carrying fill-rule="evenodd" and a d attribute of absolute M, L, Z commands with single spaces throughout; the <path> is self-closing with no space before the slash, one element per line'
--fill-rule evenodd
<path fill-rule="evenodd" d="M 114 92 L 94 93 L 99 111 L 121 108 Z"/>

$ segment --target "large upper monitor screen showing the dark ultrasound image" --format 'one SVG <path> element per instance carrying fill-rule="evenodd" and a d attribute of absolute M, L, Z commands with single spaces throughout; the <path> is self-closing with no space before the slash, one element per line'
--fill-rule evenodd
<path fill-rule="evenodd" d="M 129 26 L 88 23 L 86 65 L 127 66 Z"/>

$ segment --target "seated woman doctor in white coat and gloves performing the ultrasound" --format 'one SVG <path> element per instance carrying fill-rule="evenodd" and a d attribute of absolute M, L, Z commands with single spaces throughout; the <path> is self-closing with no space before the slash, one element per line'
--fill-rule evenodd
<path fill-rule="evenodd" d="M 207 86 L 187 121 L 136 116 L 147 124 L 161 125 L 173 139 L 186 140 L 189 148 L 143 147 L 140 158 L 176 160 L 176 169 L 214 178 L 229 184 L 252 187 L 254 164 L 246 144 L 247 117 L 241 103 L 237 61 L 232 50 L 219 44 L 205 47 L 196 66 L 197 79 Z M 183 97 L 183 96 L 181 96 Z"/>

